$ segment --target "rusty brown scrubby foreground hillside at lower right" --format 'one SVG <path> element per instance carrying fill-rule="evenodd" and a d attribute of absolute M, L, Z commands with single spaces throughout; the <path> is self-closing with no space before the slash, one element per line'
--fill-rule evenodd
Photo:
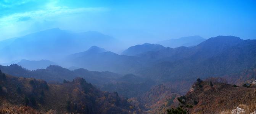
<path fill-rule="evenodd" d="M 243 105 L 246 114 L 254 111 L 255 88 L 237 87 L 219 79 L 196 82 L 185 95 L 185 103 L 193 105 L 190 113 L 220 113 L 231 111 Z"/>

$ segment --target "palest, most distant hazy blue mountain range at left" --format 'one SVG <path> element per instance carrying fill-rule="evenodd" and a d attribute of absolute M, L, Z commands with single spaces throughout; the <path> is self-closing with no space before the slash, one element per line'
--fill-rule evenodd
<path fill-rule="evenodd" d="M 58 60 L 68 54 L 84 51 L 92 45 L 112 49 L 113 45 L 118 45 L 117 42 L 115 38 L 99 32 L 72 33 L 53 28 L 0 41 L 0 63 L 17 59 Z"/>

